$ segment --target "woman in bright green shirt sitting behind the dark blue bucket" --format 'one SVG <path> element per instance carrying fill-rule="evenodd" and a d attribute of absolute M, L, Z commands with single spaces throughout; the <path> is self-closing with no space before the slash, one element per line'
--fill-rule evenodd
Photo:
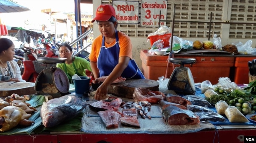
<path fill-rule="evenodd" d="M 85 70 L 91 71 L 90 62 L 81 57 L 72 56 L 72 47 L 63 43 L 59 47 L 60 58 L 67 58 L 65 63 L 57 63 L 57 68 L 62 69 L 68 76 L 69 83 L 71 83 L 72 76 L 87 76 Z"/>

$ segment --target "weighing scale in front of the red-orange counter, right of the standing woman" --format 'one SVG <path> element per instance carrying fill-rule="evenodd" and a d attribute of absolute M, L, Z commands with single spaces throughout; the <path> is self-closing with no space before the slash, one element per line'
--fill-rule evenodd
<path fill-rule="evenodd" d="M 196 63 L 194 58 L 170 58 L 170 62 L 179 64 L 180 67 L 175 67 L 168 82 L 168 90 L 173 90 L 176 93 L 188 95 L 195 94 L 196 87 L 191 70 L 188 67 L 184 67 L 185 64 Z"/>

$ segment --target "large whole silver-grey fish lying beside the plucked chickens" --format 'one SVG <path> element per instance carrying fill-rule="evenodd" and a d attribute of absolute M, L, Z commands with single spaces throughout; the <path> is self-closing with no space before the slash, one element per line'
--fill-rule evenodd
<path fill-rule="evenodd" d="M 61 122 L 75 117 L 85 107 L 86 101 L 76 95 L 68 94 L 44 102 L 40 116 L 45 127 L 53 127 Z"/>

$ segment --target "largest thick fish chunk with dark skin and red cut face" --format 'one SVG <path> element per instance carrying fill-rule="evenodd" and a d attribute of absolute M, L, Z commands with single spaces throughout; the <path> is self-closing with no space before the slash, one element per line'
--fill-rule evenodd
<path fill-rule="evenodd" d="M 200 122 L 199 117 L 192 111 L 172 105 L 162 111 L 162 118 L 169 125 L 193 125 Z"/>

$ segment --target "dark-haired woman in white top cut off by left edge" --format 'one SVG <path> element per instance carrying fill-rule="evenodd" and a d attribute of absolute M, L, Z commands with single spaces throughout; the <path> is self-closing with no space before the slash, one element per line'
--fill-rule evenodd
<path fill-rule="evenodd" d="M 13 41 L 0 38 L 0 82 L 16 81 L 26 82 L 21 78 L 21 69 L 14 58 Z"/>

